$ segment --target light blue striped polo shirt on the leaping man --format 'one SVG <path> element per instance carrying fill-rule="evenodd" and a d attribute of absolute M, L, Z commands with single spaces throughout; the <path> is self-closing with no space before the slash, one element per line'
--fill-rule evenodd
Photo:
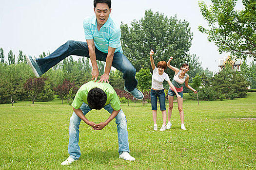
<path fill-rule="evenodd" d="M 123 52 L 121 46 L 120 26 L 108 17 L 107 22 L 98 31 L 96 16 L 89 16 L 83 20 L 85 39 L 93 39 L 95 47 L 102 52 L 108 53 L 108 47 L 115 48 L 115 52 Z"/>

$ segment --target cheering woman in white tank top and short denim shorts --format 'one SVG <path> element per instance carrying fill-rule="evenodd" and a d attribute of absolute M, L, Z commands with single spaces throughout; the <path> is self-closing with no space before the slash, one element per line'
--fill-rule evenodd
<path fill-rule="evenodd" d="M 173 85 L 175 86 L 175 89 L 177 90 L 178 94 L 181 96 L 180 99 L 177 98 L 178 102 L 178 111 L 179 111 L 179 117 L 181 120 L 181 129 L 186 130 L 184 125 L 184 112 L 183 112 L 183 87 L 182 84 L 184 84 L 186 87 L 188 87 L 190 90 L 194 91 L 194 93 L 197 93 L 197 91 L 192 88 L 188 84 L 189 75 L 187 72 L 189 71 L 189 65 L 183 64 L 180 69 L 173 67 L 170 65 L 170 62 L 173 60 L 173 57 L 170 57 L 169 61 L 167 62 L 167 67 L 171 68 L 173 71 L 175 71 L 175 76 L 173 78 Z M 173 88 L 168 90 L 168 101 L 169 101 L 169 108 L 168 108 L 168 122 L 167 122 L 167 129 L 170 129 L 172 126 L 171 123 L 171 116 L 172 116 L 172 110 L 173 110 L 173 101 L 174 101 L 174 93 Z"/>

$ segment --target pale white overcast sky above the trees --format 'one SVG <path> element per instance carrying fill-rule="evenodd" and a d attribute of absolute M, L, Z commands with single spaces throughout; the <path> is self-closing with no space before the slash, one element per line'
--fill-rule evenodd
<path fill-rule="evenodd" d="M 85 41 L 82 21 L 94 15 L 93 8 L 93 0 L 0 0 L 0 48 L 6 59 L 10 50 L 16 56 L 22 50 L 38 57 L 43 51 L 55 51 L 69 39 Z M 237 9 L 241 8 L 238 0 Z M 130 24 L 149 9 L 188 21 L 194 34 L 189 52 L 199 57 L 203 68 L 218 70 L 218 59 L 227 54 L 219 54 L 207 35 L 198 31 L 199 25 L 208 25 L 197 0 L 112 0 L 111 17 L 119 24 Z"/>

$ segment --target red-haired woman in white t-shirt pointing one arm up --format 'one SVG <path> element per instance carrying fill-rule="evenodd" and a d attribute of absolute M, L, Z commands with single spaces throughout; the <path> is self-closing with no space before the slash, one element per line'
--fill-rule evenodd
<path fill-rule="evenodd" d="M 153 74 L 152 74 L 152 85 L 151 85 L 151 92 L 150 92 L 150 97 L 151 97 L 151 107 L 152 107 L 152 114 L 153 114 L 153 121 L 154 121 L 154 131 L 158 130 L 158 125 L 157 125 L 157 110 L 158 110 L 158 105 L 157 105 L 157 100 L 159 99 L 160 103 L 160 110 L 162 111 L 162 117 L 163 117 L 163 125 L 160 129 L 160 131 L 165 131 L 167 129 L 166 127 L 166 108 L 165 108 L 165 93 L 164 93 L 164 88 L 163 88 L 163 81 L 167 81 L 168 84 L 174 91 L 176 92 L 176 95 L 178 98 L 180 96 L 178 95 L 174 85 L 171 83 L 168 74 L 164 72 L 164 70 L 167 68 L 167 64 L 165 61 L 159 61 L 157 68 L 154 64 L 153 60 L 153 54 L 154 51 L 151 49 L 149 56 L 150 56 L 150 63 L 153 69 Z M 157 99 L 158 98 L 158 99 Z"/>

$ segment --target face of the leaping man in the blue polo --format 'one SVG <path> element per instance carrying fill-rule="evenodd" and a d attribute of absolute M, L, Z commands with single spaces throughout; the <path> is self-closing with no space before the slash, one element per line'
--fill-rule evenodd
<path fill-rule="evenodd" d="M 101 27 L 107 22 L 111 9 L 109 9 L 108 4 L 106 3 L 97 3 L 96 8 L 94 8 L 94 12 L 96 14 L 97 24 Z"/>

